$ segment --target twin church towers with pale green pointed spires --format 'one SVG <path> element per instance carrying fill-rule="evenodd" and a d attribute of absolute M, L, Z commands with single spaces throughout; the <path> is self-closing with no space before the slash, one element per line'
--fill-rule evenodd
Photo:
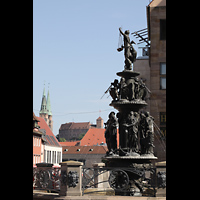
<path fill-rule="evenodd" d="M 40 114 L 40 117 L 42 117 L 46 121 L 47 125 L 53 132 L 53 120 L 52 120 L 52 111 L 51 111 L 49 90 L 48 90 L 47 99 L 46 99 L 45 87 L 43 90 L 42 103 L 41 103 L 41 108 L 40 108 L 39 114 Z"/>

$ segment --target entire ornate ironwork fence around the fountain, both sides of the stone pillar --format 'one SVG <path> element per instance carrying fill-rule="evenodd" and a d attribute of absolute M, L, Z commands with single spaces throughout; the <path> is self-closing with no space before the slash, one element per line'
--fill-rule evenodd
<path fill-rule="evenodd" d="M 71 177 L 71 178 L 70 178 Z M 76 176 L 82 181 L 82 195 L 89 188 L 113 189 L 118 195 L 156 196 L 158 188 L 166 187 L 166 172 L 156 168 L 113 168 L 113 167 L 83 167 L 82 174 Z M 68 187 L 76 187 L 70 172 L 61 168 L 33 168 L 33 189 L 59 192 L 62 182 Z M 72 186 L 70 186 L 70 184 Z"/>

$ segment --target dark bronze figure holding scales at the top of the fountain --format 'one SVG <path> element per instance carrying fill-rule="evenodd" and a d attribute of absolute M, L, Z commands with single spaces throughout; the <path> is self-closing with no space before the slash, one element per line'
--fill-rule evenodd
<path fill-rule="evenodd" d="M 129 38 L 129 30 L 126 30 L 124 33 L 122 32 L 121 28 L 119 28 L 120 33 L 124 36 L 124 45 L 121 45 L 121 48 L 118 48 L 118 51 L 122 51 L 124 49 L 124 56 L 125 56 L 125 70 L 132 70 L 132 63 L 136 61 L 137 51 L 133 48 L 132 44 L 135 42 L 132 40 L 130 42 Z"/>

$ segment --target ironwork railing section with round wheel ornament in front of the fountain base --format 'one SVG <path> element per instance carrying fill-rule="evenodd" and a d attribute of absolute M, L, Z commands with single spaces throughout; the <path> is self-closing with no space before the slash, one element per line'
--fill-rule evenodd
<path fill-rule="evenodd" d="M 112 188 L 119 195 L 156 196 L 155 172 L 156 168 L 83 168 L 83 194 L 88 188 Z"/>

